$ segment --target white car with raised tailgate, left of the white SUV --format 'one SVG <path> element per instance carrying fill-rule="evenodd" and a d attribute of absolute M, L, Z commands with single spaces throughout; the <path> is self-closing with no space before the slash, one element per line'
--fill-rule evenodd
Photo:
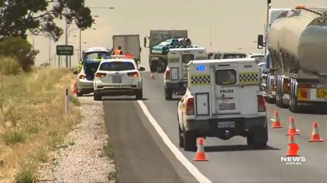
<path fill-rule="evenodd" d="M 77 75 L 76 95 L 78 97 L 93 92 L 94 73 L 100 64 L 100 60 L 97 57 L 99 55 L 101 57 L 107 57 L 110 55 L 110 52 L 109 49 L 103 47 L 91 47 L 83 50 L 83 60 L 80 64 L 80 69 L 79 71 L 74 71 L 74 74 Z"/>

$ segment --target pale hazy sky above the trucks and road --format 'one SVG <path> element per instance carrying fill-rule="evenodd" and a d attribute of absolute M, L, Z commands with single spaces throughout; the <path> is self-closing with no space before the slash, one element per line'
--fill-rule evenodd
<path fill-rule="evenodd" d="M 255 41 L 257 35 L 264 34 L 265 0 L 85 0 L 85 3 L 91 8 L 91 14 L 98 17 L 94 17 L 96 24 L 92 26 L 96 30 L 82 32 L 82 42 L 86 42 L 82 43 L 82 50 L 111 48 L 113 35 L 137 34 L 142 47 L 141 66 L 147 69 L 149 50 L 143 47 L 143 38 L 149 36 L 150 30 L 188 30 L 192 43 L 208 51 L 263 52 L 256 48 Z M 326 0 L 272 0 L 272 8 L 294 8 L 296 5 L 326 7 Z M 64 28 L 64 22 L 58 22 L 58 26 Z M 76 27 L 74 30 L 73 25 L 70 30 L 69 44 L 79 49 L 79 30 Z M 33 43 L 32 36 L 28 40 Z M 60 44 L 64 45 L 64 35 L 57 43 L 34 37 L 34 48 L 40 51 L 36 66 L 47 61 L 49 55 L 54 56 L 55 45 Z M 78 64 L 78 52 L 72 56 L 72 66 Z M 52 63 L 53 59 L 57 57 L 52 57 Z"/>

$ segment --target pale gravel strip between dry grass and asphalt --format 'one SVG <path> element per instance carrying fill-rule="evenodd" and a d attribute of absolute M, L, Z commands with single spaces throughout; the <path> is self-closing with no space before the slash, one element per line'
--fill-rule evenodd
<path fill-rule="evenodd" d="M 37 182 L 116 182 L 102 102 L 94 101 L 93 97 L 79 97 L 79 100 L 81 123 L 52 152 L 50 162 L 39 168 Z"/>

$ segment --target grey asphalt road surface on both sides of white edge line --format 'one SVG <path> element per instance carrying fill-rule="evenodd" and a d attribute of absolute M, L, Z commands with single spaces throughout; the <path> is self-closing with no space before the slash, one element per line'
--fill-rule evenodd
<path fill-rule="evenodd" d="M 269 128 L 266 150 L 252 150 L 246 139 L 205 139 L 207 162 L 194 162 L 195 152 L 178 147 L 176 101 L 165 101 L 163 76 L 144 73 L 144 104 L 165 134 L 182 154 L 212 182 L 326 182 L 326 142 L 308 142 L 312 122 L 318 122 L 319 134 L 326 139 L 326 115 L 294 114 L 267 104 L 268 118 L 279 112 L 281 129 Z M 114 159 L 121 182 L 195 182 L 191 173 L 163 143 L 138 101 L 131 97 L 114 97 L 103 101 L 105 122 L 111 137 Z M 281 162 L 287 150 L 289 118 L 294 116 L 300 135 L 295 136 L 298 154 L 306 158 L 301 165 Z M 271 121 L 269 121 L 271 126 Z"/>

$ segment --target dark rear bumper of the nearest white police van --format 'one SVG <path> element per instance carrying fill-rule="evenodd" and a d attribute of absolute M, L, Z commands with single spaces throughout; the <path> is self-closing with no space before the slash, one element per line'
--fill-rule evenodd
<path fill-rule="evenodd" d="M 218 128 L 218 122 L 234 121 L 233 128 Z M 246 136 L 248 132 L 266 128 L 267 117 L 254 118 L 222 118 L 222 119 L 206 119 L 206 120 L 186 120 L 185 130 L 195 131 L 199 135 L 219 138 L 229 138 L 240 135 Z M 229 133 L 226 136 L 226 131 Z"/>

